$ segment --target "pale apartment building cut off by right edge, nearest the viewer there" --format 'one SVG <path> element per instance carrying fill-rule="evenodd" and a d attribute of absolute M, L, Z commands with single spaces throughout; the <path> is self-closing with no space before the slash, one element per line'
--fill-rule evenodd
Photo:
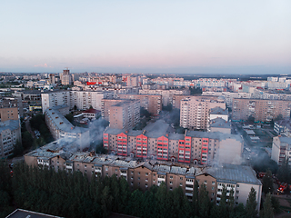
<path fill-rule="evenodd" d="M 285 161 L 291 164 L 291 138 L 281 135 L 273 137 L 271 159 L 278 165 Z"/>

